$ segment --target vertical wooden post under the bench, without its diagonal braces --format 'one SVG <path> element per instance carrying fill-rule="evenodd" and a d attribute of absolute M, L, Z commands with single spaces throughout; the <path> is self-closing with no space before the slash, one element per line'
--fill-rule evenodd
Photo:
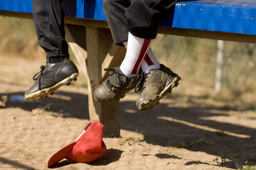
<path fill-rule="evenodd" d="M 86 27 L 88 100 L 90 120 L 99 120 L 108 136 L 120 136 L 117 123 L 118 102 L 100 103 L 93 98 L 93 92 L 102 82 L 102 63 L 109 52 L 113 39 L 109 29 Z"/>

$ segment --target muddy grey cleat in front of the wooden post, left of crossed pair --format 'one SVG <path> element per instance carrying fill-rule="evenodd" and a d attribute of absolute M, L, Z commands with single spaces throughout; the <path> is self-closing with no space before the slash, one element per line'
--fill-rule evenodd
<path fill-rule="evenodd" d="M 128 79 L 119 67 L 106 68 L 105 71 L 110 71 L 108 79 L 94 91 L 94 98 L 97 102 L 118 102 L 140 83 L 141 75 Z"/>

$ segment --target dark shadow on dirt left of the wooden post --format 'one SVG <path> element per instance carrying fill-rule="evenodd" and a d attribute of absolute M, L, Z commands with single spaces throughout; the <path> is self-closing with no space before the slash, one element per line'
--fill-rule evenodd
<path fill-rule="evenodd" d="M 46 111 L 63 113 L 64 117 L 73 117 L 89 120 L 88 96 L 81 93 L 68 93 L 57 91 L 56 95 L 38 100 L 36 102 L 12 102 L 12 97 L 23 97 L 24 92 L 0 94 L 0 97 L 7 96 L 6 107 L 20 107 L 26 111 L 36 108 L 44 108 Z M 19 100 L 19 98 L 17 99 Z M 3 109 L 1 107 L 0 109 Z"/>

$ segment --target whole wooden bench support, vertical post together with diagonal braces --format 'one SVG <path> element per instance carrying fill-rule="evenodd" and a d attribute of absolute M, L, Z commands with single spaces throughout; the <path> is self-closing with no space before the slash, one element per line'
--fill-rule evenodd
<path fill-rule="evenodd" d="M 109 137 L 119 137 L 117 123 L 118 103 L 100 103 L 93 98 L 94 90 L 108 74 L 104 68 L 120 65 L 125 56 L 125 48 L 113 44 L 109 29 L 66 24 L 66 36 L 70 48 L 88 77 L 88 102 L 90 120 L 99 120 Z"/>

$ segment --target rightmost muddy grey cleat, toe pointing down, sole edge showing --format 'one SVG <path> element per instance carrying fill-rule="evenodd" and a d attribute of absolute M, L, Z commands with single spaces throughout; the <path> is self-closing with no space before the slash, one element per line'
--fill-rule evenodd
<path fill-rule="evenodd" d="M 140 97 L 136 100 L 136 105 L 140 111 L 147 111 L 159 104 L 159 100 L 167 93 L 171 93 L 181 80 L 179 75 L 164 65 L 161 65 L 158 70 L 144 73 L 143 79 L 140 88 L 136 89 L 136 91 L 141 91 Z"/>

